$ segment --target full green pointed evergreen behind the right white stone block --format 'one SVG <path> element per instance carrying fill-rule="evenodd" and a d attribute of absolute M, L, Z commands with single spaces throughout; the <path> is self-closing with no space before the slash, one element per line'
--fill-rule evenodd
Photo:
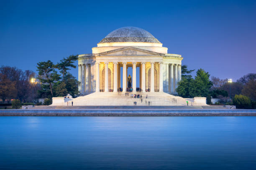
<path fill-rule="evenodd" d="M 191 97 L 207 97 L 212 82 L 209 79 L 210 74 L 203 69 L 197 70 L 195 80 L 191 83 L 189 95 Z"/>

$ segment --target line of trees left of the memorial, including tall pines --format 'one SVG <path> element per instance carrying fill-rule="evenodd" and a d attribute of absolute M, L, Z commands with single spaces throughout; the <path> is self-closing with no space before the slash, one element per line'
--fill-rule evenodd
<path fill-rule="evenodd" d="M 69 73 L 76 68 L 74 62 L 78 55 L 64 57 L 54 64 L 51 60 L 38 62 L 37 71 L 22 71 L 16 67 L 0 67 L 0 99 L 3 103 L 10 103 L 12 99 L 21 102 L 36 102 L 37 98 L 64 96 L 68 93 L 76 96 L 78 80 Z"/>

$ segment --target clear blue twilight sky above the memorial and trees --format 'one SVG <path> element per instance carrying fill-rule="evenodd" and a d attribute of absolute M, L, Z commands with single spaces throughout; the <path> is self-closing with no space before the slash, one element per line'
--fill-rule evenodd
<path fill-rule="evenodd" d="M 150 32 L 189 69 L 233 80 L 256 72 L 255 0 L 0 0 L 0 65 L 36 72 L 125 26 Z"/>

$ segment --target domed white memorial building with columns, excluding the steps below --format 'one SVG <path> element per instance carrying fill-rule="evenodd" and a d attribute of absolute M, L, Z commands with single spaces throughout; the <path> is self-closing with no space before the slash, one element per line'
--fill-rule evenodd
<path fill-rule="evenodd" d="M 79 91 L 81 95 L 126 91 L 175 94 L 183 57 L 167 50 L 141 28 L 114 30 L 92 48 L 91 54 L 78 56 Z M 128 88 L 128 67 L 132 67 L 131 88 Z"/>

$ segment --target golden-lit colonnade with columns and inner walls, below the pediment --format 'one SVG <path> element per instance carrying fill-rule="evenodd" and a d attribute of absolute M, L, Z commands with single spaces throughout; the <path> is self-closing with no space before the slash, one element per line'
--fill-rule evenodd
<path fill-rule="evenodd" d="M 95 64 L 79 65 L 79 81 L 82 82 L 80 91 L 90 93 L 93 91 L 93 76 L 91 70 L 95 66 L 95 92 L 126 92 L 127 88 L 127 68 L 132 67 L 132 89 L 136 92 L 136 88 L 145 92 L 163 92 L 174 93 L 177 82 L 181 80 L 181 65 L 169 64 L 163 62 L 109 62 L 96 61 Z M 136 87 L 136 67 L 140 68 L 139 86 Z M 167 67 L 170 74 L 164 74 L 164 68 Z M 86 68 L 86 69 L 84 69 Z M 92 69 L 89 69 L 92 68 Z M 108 68 L 108 69 L 107 69 Z M 119 69 L 118 69 L 119 68 Z M 123 82 L 121 87 L 121 69 L 123 70 Z M 106 71 L 105 71 L 106 70 Z M 151 74 L 152 72 L 152 74 Z M 166 75 L 168 75 L 166 77 Z M 105 81 L 106 80 L 106 81 Z M 152 81 L 151 81 L 152 80 Z M 91 85 L 92 83 L 92 85 Z M 165 86 L 164 86 L 165 85 Z M 168 88 L 168 89 L 167 89 Z M 125 90 L 124 90 L 125 89 Z M 154 89 L 154 91 L 152 90 Z M 138 90 L 137 90 L 138 91 Z"/>

